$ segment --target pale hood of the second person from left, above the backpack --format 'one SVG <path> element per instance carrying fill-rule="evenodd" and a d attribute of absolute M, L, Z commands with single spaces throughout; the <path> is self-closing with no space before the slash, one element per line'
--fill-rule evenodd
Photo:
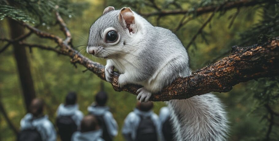
<path fill-rule="evenodd" d="M 75 114 L 75 112 L 78 110 L 78 104 L 75 105 L 67 105 L 60 104 L 57 109 L 57 116 L 70 116 Z"/>

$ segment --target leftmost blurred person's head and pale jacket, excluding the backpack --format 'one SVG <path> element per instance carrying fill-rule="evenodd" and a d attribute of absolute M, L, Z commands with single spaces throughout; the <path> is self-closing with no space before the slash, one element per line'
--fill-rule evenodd
<path fill-rule="evenodd" d="M 21 131 L 36 128 L 41 140 L 56 141 L 55 128 L 52 122 L 48 120 L 48 116 L 43 114 L 44 101 L 39 98 L 33 99 L 29 111 L 20 121 Z"/>

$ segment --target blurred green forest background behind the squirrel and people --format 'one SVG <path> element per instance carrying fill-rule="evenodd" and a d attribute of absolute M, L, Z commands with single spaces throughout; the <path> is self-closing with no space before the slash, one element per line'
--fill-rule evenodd
<path fill-rule="evenodd" d="M 55 24 L 55 5 L 67 23 L 73 36 L 73 45 L 93 61 L 105 65 L 105 59 L 87 55 L 90 25 L 101 16 L 107 6 L 116 9 L 130 7 L 144 15 L 154 26 L 172 30 L 188 48 L 190 66 L 196 70 L 215 63 L 230 53 L 233 45 L 247 46 L 262 43 L 271 37 L 279 36 L 278 1 L 250 0 L 251 6 L 240 6 L 221 10 L 226 2 L 232 0 L 11 0 L 11 6 L 5 6 L 6 0 L 0 0 L 0 37 L 9 38 L 9 17 L 18 21 L 29 22 L 39 29 L 63 36 Z M 244 1 L 244 0 L 235 0 Z M 233 2 L 233 1 L 232 1 Z M 13 5 L 13 6 L 12 6 Z M 199 7 L 220 6 L 216 12 L 198 15 Z M 171 10 L 192 10 L 188 14 L 148 15 Z M 4 12 L 3 12 L 4 11 Z M 6 11 L 6 13 L 5 13 Z M 8 11 L 8 12 L 7 12 Z M 9 13 L 10 11 L 10 13 Z M 16 16 L 13 16 L 16 15 Z M 182 21 L 183 19 L 183 21 Z M 182 22 L 181 22 L 182 21 Z M 27 33 L 28 30 L 25 32 Z M 52 41 L 31 35 L 27 41 L 37 44 L 55 45 Z M 189 44 L 191 43 L 191 44 Z M 5 42 L 0 41 L 0 47 Z M 69 58 L 52 51 L 26 48 L 36 97 L 46 101 L 45 113 L 54 123 L 55 111 L 69 91 L 78 93 L 78 104 L 84 114 L 87 106 L 94 101 L 94 95 L 101 90 L 109 94 L 108 105 L 119 125 L 119 134 L 115 140 L 123 140 L 121 127 L 124 118 L 133 110 L 136 96 L 126 92 L 116 92 L 110 83 L 102 81 L 90 71 L 70 63 Z M 21 82 L 14 57 L 13 47 L 8 47 L 0 54 L 0 100 L 1 108 L 16 129 L 21 118 L 26 114 Z M 279 64 L 278 64 L 279 65 Z M 227 93 L 215 93 L 227 107 L 230 121 L 229 140 L 277 140 L 279 137 L 279 79 L 261 78 L 240 83 Z M 164 106 L 164 102 L 155 102 L 155 113 Z M 0 140 L 16 139 L 5 116 L 0 114 Z"/>

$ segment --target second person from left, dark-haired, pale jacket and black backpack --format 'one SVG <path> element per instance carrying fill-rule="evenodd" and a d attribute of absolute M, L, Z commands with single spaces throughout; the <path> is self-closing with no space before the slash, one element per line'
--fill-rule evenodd
<path fill-rule="evenodd" d="M 80 130 L 80 123 L 83 118 L 83 113 L 78 110 L 77 94 L 75 92 L 67 94 L 65 104 L 59 105 L 56 115 L 56 125 L 61 140 L 71 140 L 71 135 Z"/>

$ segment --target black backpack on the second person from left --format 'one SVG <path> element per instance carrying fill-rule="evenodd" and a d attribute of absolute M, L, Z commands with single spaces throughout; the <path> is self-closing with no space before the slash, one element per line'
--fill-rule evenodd
<path fill-rule="evenodd" d="M 58 134 L 62 141 L 71 141 L 71 137 L 78 127 L 71 116 L 59 116 L 56 119 Z"/>

